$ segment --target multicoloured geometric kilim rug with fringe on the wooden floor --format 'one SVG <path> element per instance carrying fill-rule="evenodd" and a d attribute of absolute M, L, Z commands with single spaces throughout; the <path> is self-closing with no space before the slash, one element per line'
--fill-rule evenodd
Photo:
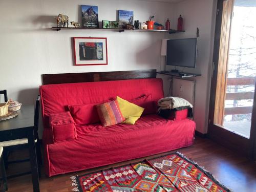
<path fill-rule="evenodd" d="M 80 192 L 230 191 L 179 152 L 71 179 Z"/>

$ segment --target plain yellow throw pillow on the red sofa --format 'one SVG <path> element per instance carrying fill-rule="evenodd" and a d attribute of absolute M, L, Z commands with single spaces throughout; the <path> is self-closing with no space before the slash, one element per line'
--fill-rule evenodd
<path fill-rule="evenodd" d="M 141 114 L 144 111 L 144 108 L 136 104 L 130 103 L 120 97 L 116 97 L 116 100 L 119 104 L 120 111 L 125 118 L 123 123 L 125 124 L 135 124 L 135 122 L 140 118 Z"/>

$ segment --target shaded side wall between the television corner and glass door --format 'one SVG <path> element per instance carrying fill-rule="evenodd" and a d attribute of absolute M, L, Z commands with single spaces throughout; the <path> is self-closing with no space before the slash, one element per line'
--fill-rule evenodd
<path fill-rule="evenodd" d="M 214 0 L 187 0 L 175 5 L 175 18 L 178 19 L 179 15 L 182 15 L 186 32 L 175 34 L 172 38 L 196 37 L 197 27 L 199 28 L 196 69 L 187 68 L 184 71 L 202 74 L 196 77 L 194 106 L 196 130 L 201 133 L 207 133 L 216 2 Z M 174 19 L 174 26 L 177 26 L 177 19 Z"/>

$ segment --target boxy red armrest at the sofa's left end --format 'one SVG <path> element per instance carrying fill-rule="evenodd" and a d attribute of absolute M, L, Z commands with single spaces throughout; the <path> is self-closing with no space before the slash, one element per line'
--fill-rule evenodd
<path fill-rule="evenodd" d="M 50 114 L 49 124 L 53 143 L 76 139 L 76 124 L 70 112 Z"/>

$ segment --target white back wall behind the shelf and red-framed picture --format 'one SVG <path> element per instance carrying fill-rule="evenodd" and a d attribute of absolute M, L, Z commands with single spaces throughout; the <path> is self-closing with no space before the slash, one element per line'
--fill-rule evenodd
<path fill-rule="evenodd" d="M 133 10 L 141 22 L 155 15 L 164 23 L 174 14 L 173 4 L 145 1 L 1 0 L 0 90 L 7 89 L 9 98 L 34 103 L 41 74 L 160 70 L 163 33 L 49 29 L 59 13 L 80 19 L 79 5 L 98 6 L 99 20 L 116 20 L 117 10 Z M 89 36 L 108 38 L 108 66 L 73 66 L 71 37 Z"/>

